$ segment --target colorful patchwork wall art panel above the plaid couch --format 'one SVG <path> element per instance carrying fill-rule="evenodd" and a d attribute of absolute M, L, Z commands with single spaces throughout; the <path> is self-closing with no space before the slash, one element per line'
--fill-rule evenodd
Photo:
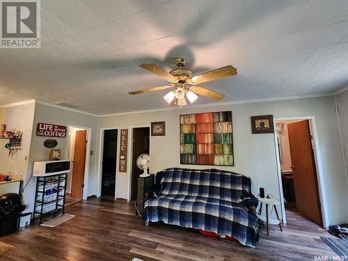
<path fill-rule="evenodd" d="M 232 111 L 180 115 L 180 164 L 234 166 Z"/>

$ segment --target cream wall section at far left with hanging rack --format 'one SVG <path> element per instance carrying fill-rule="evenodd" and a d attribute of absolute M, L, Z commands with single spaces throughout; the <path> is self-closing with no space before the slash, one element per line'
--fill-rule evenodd
<path fill-rule="evenodd" d="M 0 173 L 13 174 L 18 171 L 19 175 L 25 176 L 29 157 L 31 132 L 33 127 L 34 102 L 17 106 L 0 108 L 0 124 L 6 124 L 6 131 L 19 130 L 22 134 L 22 150 L 15 155 L 8 155 L 5 144 L 8 139 L 0 139 Z M 0 195 L 2 195 L 0 191 Z"/>

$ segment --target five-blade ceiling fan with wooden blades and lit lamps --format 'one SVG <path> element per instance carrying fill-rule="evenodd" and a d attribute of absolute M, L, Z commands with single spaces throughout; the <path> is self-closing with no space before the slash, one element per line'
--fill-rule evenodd
<path fill-rule="evenodd" d="M 216 93 L 214 90 L 208 90 L 206 88 L 197 86 L 197 84 L 203 84 L 207 81 L 214 81 L 216 79 L 230 77 L 237 74 L 236 68 L 231 65 L 227 65 L 216 70 L 193 76 L 193 72 L 191 72 L 191 70 L 184 69 L 186 63 L 186 58 L 176 57 L 174 59 L 174 64 L 177 66 L 177 69 L 171 70 L 171 72 L 166 72 L 164 69 L 160 68 L 154 63 L 143 63 L 139 65 L 141 68 L 144 68 L 145 70 L 166 79 L 168 81 L 168 85 L 136 90 L 130 92 L 129 94 L 135 95 L 140 93 L 150 93 L 156 90 L 174 88 L 171 90 L 171 92 L 167 93 L 163 97 L 164 100 L 171 105 L 185 106 L 187 105 L 187 100 L 189 100 L 191 103 L 196 102 L 198 95 L 203 95 L 213 100 L 221 100 L 223 97 L 225 97 L 225 95 Z"/>

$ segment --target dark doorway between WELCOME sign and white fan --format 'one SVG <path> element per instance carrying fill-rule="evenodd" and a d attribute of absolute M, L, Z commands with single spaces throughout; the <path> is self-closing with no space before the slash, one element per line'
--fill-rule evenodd
<path fill-rule="evenodd" d="M 138 177 L 143 170 L 136 165 L 136 159 L 142 154 L 150 155 L 150 127 L 136 127 L 132 132 L 132 180 L 131 198 L 135 200 L 138 191 Z"/>

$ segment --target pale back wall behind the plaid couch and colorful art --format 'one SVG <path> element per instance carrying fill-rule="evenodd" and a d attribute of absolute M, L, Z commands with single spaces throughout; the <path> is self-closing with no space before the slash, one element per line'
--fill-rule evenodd
<path fill-rule="evenodd" d="M 326 213 L 328 223 L 347 221 L 348 208 L 342 207 L 347 205 L 347 177 L 340 149 L 338 118 L 335 113 L 333 97 L 223 106 L 187 106 L 177 110 L 108 116 L 99 118 L 99 128 L 119 127 L 122 129 L 150 125 L 152 121 L 165 120 L 166 136 L 155 136 L 151 139 L 152 172 L 173 166 L 212 168 L 212 166 L 180 164 L 179 116 L 184 113 L 227 110 L 232 111 L 235 166 L 219 166 L 219 168 L 250 176 L 253 193 L 258 194 L 258 188 L 264 187 L 267 193 L 272 193 L 277 198 L 280 197 L 280 191 L 274 134 L 251 134 L 250 116 L 265 114 L 273 114 L 278 118 L 315 116 L 320 148 L 318 159 L 320 162 L 318 164 L 324 174 L 322 180 L 325 186 L 323 196 L 324 204 L 328 209 Z M 97 140 L 100 141 L 100 131 Z M 131 151 L 130 145 L 129 139 L 129 153 Z M 117 173 L 116 196 L 118 198 L 127 198 L 129 195 L 130 159 L 131 157 L 128 157 L 127 173 Z"/>

